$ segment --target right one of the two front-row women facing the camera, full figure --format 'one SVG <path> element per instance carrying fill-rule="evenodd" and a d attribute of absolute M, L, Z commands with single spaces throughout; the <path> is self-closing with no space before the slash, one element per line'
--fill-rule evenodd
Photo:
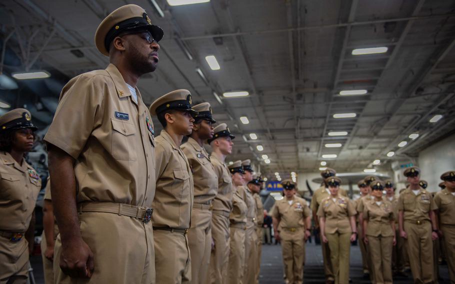
<path fill-rule="evenodd" d="M 392 247 L 395 239 L 395 217 L 392 204 L 382 198 L 385 183 L 374 180 L 371 184 L 371 195 L 374 199 L 363 202 L 363 231 L 364 242 L 369 247 L 373 283 L 392 283 Z"/>

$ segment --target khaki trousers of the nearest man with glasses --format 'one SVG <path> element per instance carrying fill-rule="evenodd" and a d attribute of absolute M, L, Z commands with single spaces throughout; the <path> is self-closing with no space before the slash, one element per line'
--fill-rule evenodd
<path fill-rule="evenodd" d="M 55 240 L 55 283 L 155 283 L 155 258 L 151 222 L 104 212 L 78 214 L 82 239 L 93 252 L 89 279 L 71 278 L 60 269 L 61 239 Z"/>

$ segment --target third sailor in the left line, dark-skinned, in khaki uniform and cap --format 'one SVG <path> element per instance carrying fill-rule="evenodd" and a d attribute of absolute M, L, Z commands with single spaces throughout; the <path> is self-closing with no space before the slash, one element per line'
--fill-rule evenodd
<path fill-rule="evenodd" d="M 212 124 L 216 121 L 208 102 L 193 106 L 198 112 L 188 141 L 181 150 L 188 159 L 194 180 L 194 203 L 191 214 L 191 227 L 188 230 L 189 251 L 191 254 L 191 283 L 207 281 L 211 251 L 211 209 L 212 200 L 218 190 L 218 177 L 203 147 L 205 140 L 213 137 Z"/>

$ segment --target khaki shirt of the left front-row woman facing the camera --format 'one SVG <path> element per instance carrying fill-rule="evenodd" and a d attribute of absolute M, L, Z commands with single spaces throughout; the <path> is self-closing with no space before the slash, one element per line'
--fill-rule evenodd
<path fill-rule="evenodd" d="M 346 233 L 351 231 L 349 217 L 357 212 L 350 200 L 345 196 L 338 195 L 333 201 L 328 196 L 317 209 L 318 217 L 325 217 L 325 233 Z"/>

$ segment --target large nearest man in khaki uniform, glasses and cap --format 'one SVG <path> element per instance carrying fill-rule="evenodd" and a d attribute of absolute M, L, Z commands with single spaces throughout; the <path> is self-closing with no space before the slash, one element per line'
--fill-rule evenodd
<path fill-rule="evenodd" d="M 156 69 L 162 34 L 141 7 L 114 10 L 95 34 L 111 63 L 72 78 L 61 91 L 44 136 L 60 231 L 56 283 L 155 280 L 154 131 L 135 86 Z"/>

